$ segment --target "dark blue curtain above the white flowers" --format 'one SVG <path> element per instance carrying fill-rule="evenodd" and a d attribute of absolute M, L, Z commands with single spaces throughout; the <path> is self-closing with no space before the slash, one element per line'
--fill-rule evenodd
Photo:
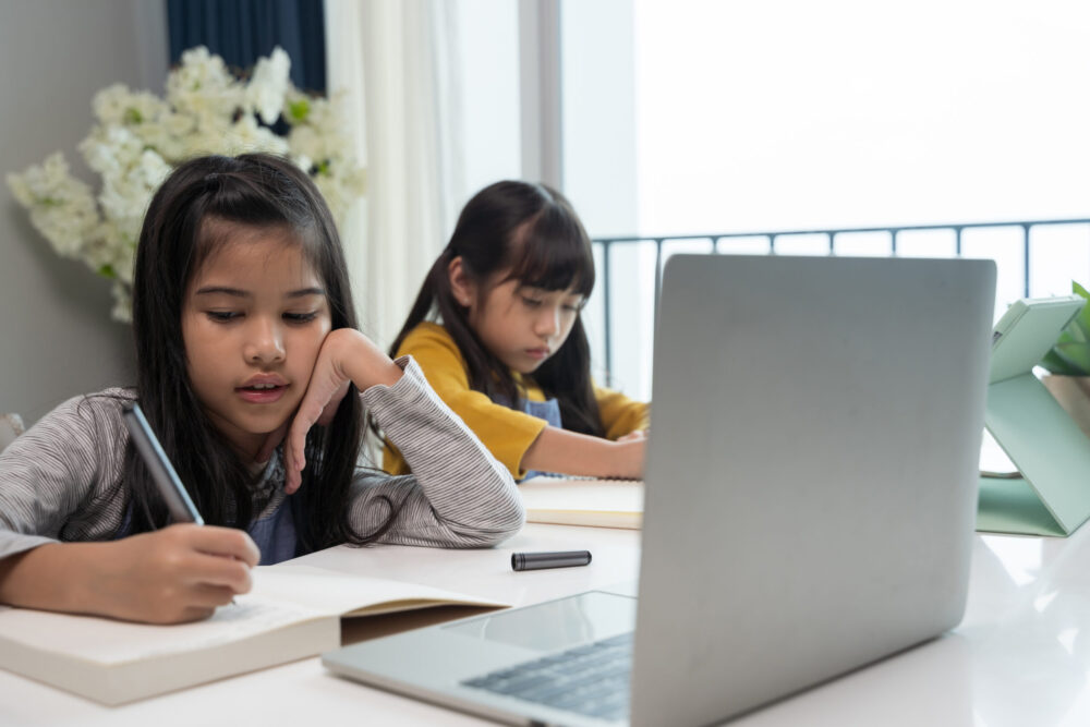
<path fill-rule="evenodd" d="M 296 88 L 326 90 L 326 29 L 322 0 L 167 0 L 170 64 L 205 46 L 229 66 L 246 70 L 277 46 L 291 58 Z"/>

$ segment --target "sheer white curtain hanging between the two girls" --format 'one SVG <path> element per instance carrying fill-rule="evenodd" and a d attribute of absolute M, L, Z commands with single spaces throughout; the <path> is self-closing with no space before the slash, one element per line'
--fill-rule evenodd
<path fill-rule="evenodd" d="M 457 36 L 441 0 L 326 0 L 329 89 L 346 92 L 367 166 L 341 234 L 361 326 L 384 349 L 467 196 Z"/>

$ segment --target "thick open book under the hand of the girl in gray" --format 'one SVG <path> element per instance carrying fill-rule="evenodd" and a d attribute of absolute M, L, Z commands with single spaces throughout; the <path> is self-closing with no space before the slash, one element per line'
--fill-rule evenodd
<path fill-rule="evenodd" d="M 121 704 L 337 649 L 341 616 L 509 605 L 308 566 L 259 567 L 253 582 L 211 618 L 180 626 L 0 607 L 0 667 Z"/>

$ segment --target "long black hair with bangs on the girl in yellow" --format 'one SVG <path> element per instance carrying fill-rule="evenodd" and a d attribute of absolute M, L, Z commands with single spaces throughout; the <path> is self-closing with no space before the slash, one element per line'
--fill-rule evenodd
<path fill-rule="evenodd" d="M 479 290 L 497 272 L 505 280 L 543 290 L 571 290 L 584 299 L 594 290 L 591 239 L 571 204 L 545 184 L 502 181 L 477 192 L 462 209 L 450 242 L 428 270 L 390 355 L 405 336 L 437 316 L 455 339 L 469 368 L 470 387 L 517 402 L 523 392 L 510 369 L 481 342 L 469 324 L 468 308 L 450 289 L 448 267 L 456 257 Z M 564 428 L 604 436 L 591 381 L 591 347 L 581 317 L 564 344 L 533 373 L 532 379 L 560 405 Z"/>

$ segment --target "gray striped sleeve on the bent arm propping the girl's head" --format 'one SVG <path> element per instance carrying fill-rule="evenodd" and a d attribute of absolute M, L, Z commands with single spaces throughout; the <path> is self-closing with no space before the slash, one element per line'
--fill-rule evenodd
<path fill-rule="evenodd" d="M 386 543 L 481 547 L 500 543 L 525 521 L 510 472 L 428 386 L 412 356 L 397 360 L 404 376 L 374 386 L 363 402 L 402 452 L 412 474 L 358 476 L 351 521 L 374 532 L 400 507 Z"/>

